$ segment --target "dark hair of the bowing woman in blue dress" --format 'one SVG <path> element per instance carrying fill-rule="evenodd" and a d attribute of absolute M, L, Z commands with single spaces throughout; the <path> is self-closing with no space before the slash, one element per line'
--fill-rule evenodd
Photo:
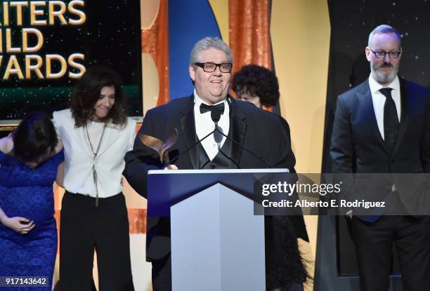
<path fill-rule="evenodd" d="M 22 119 L 12 133 L 12 154 L 22 163 L 34 163 L 56 150 L 58 137 L 51 119 L 43 112 L 34 112 Z"/>

